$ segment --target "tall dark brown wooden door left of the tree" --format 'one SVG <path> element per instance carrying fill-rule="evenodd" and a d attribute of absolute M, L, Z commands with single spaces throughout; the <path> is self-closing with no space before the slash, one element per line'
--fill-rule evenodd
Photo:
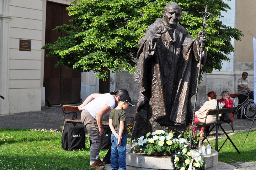
<path fill-rule="evenodd" d="M 69 24 L 70 16 L 66 5 L 47 2 L 46 7 L 46 38 L 45 43 L 53 44 L 63 33 L 56 33 L 53 28 Z M 80 103 L 81 73 L 66 66 L 55 67 L 57 57 L 44 56 L 44 87 L 46 100 L 50 104 Z"/>

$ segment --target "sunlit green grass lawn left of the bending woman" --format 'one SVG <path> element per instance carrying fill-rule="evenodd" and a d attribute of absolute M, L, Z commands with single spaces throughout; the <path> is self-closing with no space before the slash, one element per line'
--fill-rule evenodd
<path fill-rule="evenodd" d="M 65 151 L 62 133 L 46 130 L 0 130 L 1 170 L 85 170 L 90 164 L 89 137 L 83 151 Z M 101 151 L 100 157 L 107 151 Z"/>

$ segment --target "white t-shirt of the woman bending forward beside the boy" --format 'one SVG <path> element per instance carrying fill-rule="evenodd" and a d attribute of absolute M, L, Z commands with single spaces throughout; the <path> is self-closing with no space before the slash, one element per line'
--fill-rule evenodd
<path fill-rule="evenodd" d="M 96 97 L 94 100 L 90 101 L 84 107 L 81 107 L 81 110 L 86 109 L 92 115 L 92 117 L 94 117 L 96 119 L 97 112 L 103 106 L 105 106 L 105 104 L 110 106 L 111 110 L 112 110 L 114 108 L 114 106 L 116 105 L 116 100 L 111 94 L 105 93 L 105 94 L 102 94 L 102 95 Z M 107 114 L 110 114 L 110 111 L 109 111 L 109 113 L 106 113 L 105 115 L 107 115 Z"/>

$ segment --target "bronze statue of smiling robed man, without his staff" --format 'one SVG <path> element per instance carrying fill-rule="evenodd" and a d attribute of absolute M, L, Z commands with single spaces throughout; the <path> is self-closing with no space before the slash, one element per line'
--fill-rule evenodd
<path fill-rule="evenodd" d="M 133 137 L 145 131 L 184 128 L 191 122 L 191 97 L 195 94 L 199 68 L 199 48 L 206 41 L 202 31 L 193 39 L 178 24 L 181 7 L 171 2 L 162 11 L 139 41 L 138 64 L 134 75 L 140 84 L 136 123 Z M 206 49 L 202 48 L 202 64 L 206 61 Z"/>

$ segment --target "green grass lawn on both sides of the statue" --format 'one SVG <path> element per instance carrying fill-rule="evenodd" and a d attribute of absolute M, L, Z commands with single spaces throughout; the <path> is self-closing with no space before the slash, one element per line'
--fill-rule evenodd
<path fill-rule="evenodd" d="M 47 130 L 0 129 L 0 170 L 86 170 L 89 167 L 89 137 L 83 151 L 65 151 L 61 146 L 62 133 Z M 226 141 L 219 152 L 220 162 L 255 162 L 256 131 L 230 135 L 241 154 Z M 218 147 L 225 138 L 219 139 Z M 215 141 L 210 141 L 215 148 Z M 103 158 L 107 151 L 101 151 Z"/>

